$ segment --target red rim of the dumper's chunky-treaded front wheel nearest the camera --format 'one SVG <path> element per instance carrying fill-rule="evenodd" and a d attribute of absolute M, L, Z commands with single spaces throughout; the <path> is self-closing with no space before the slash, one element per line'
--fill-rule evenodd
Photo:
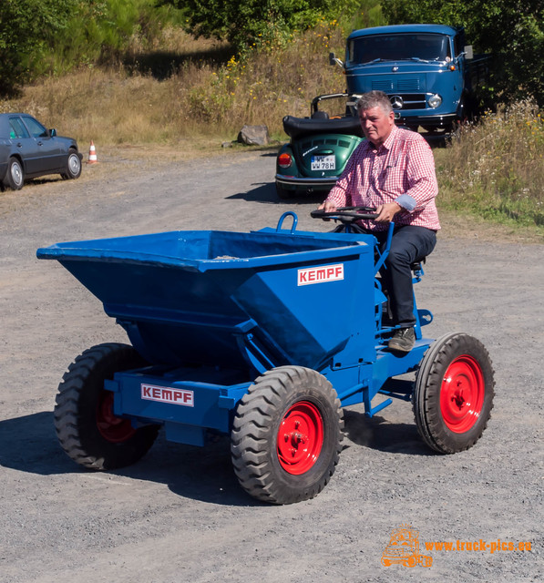
<path fill-rule="evenodd" d="M 308 401 L 293 404 L 283 416 L 278 430 L 280 465 L 293 476 L 307 472 L 323 447 L 323 418 Z"/>

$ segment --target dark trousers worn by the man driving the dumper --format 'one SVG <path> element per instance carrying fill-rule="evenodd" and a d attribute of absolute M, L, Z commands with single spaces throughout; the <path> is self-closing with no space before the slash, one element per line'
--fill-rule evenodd
<path fill-rule="evenodd" d="M 387 231 L 372 231 L 383 250 Z M 401 225 L 396 227 L 391 240 L 391 251 L 380 270 L 383 286 L 389 294 L 393 322 L 401 328 L 416 323 L 414 315 L 414 287 L 410 265 L 422 261 L 435 249 L 436 231 L 425 227 Z"/>

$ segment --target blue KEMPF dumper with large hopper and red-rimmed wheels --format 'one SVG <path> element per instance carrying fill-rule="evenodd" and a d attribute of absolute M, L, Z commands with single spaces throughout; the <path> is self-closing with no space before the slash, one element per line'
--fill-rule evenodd
<path fill-rule="evenodd" d="M 69 365 L 54 415 L 67 455 L 111 471 L 137 462 L 159 429 L 188 445 L 228 435 L 242 488 L 289 504 L 312 498 L 333 475 L 342 407 L 360 404 L 373 416 L 392 398 L 405 400 L 432 449 L 474 445 L 493 403 L 487 350 L 462 332 L 426 338 L 432 314 L 416 308 L 414 349 L 389 351 L 395 327 L 378 277 L 388 251 L 351 232 L 350 221 L 365 216 L 359 210 L 313 216 L 320 213 L 347 221 L 348 232 L 297 230 L 288 212 L 275 229 L 39 249 L 98 297 L 130 342 L 98 344 Z M 392 232 L 393 223 L 389 241 Z"/>

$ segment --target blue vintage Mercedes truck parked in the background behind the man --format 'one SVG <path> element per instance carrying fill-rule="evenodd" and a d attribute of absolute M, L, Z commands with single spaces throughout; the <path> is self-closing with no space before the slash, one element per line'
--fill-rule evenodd
<path fill-rule="evenodd" d="M 376 26 L 347 38 L 347 92 L 384 91 L 397 123 L 429 131 L 451 130 L 477 114 L 477 87 L 488 77 L 489 56 L 474 56 L 463 28 L 444 25 Z"/>

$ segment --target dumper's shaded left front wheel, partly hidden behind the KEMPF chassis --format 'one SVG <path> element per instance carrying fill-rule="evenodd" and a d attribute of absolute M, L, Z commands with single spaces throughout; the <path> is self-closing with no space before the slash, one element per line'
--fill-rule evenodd
<path fill-rule="evenodd" d="M 119 343 L 93 346 L 70 364 L 58 386 L 54 417 L 58 441 L 77 464 L 110 470 L 147 454 L 159 425 L 133 429 L 113 414 L 113 394 L 104 389 L 114 373 L 145 365 L 132 346 Z"/>

